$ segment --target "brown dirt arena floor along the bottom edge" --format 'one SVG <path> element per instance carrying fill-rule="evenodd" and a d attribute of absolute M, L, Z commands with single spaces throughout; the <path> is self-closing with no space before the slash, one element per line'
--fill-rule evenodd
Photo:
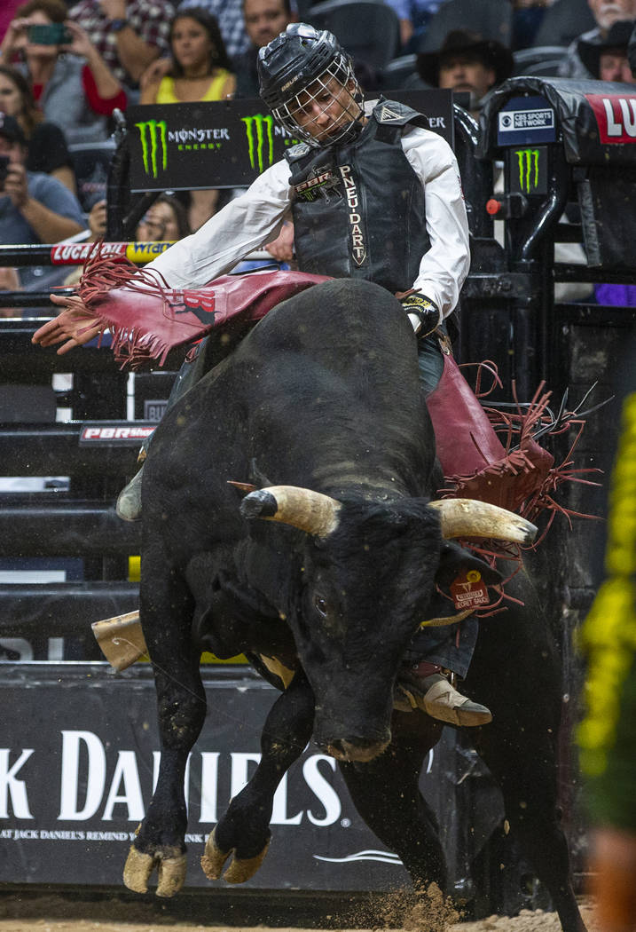
<path fill-rule="evenodd" d="M 308 901 L 309 903 L 309 901 Z M 442 901 L 438 892 L 433 892 L 424 906 L 404 908 L 401 894 L 386 895 L 376 901 L 372 910 L 375 919 L 365 925 L 355 924 L 356 910 L 362 914 L 365 907 L 352 906 L 343 925 L 333 925 L 332 917 L 326 914 L 319 926 L 346 929 L 347 932 L 378 932 L 391 928 L 399 932 L 560 932 L 561 925 L 555 913 L 523 910 L 514 917 L 490 916 L 477 922 L 462 922 L 453 909 Z M 218 929 L 232 932 L 319 932 L 309 928 L 302 919 L 299 925 L 254 925 L 253 920 L 243 922 L 237 916 L 231 921 L 206 918 L 202 915 L 204 904 L 200 902 L 191 910 L 184 907 L 175 914 L 170 907 L 156 900 L 147 903 L 122 902 L 107 896 L 93 901 L 76 901 L 60 896 L 33 896 L 32 894 L 10 894 L 0 896 L 0 932 L 203 932 Z M 583 904 L 583 918 L 589 932 L 598 932 L 593 909 L 589 902 Z M 190 912 L 191 915 L 183 915 Z M 340 918 L 340 917 L 339 917 Z M 268 920 L 269 921 L 269 920 Z"/>

